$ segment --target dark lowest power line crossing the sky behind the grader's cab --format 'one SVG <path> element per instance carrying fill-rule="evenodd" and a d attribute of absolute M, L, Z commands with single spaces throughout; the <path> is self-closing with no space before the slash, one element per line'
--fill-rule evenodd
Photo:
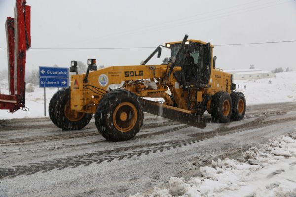
<path fill-rule="evenodd" d="M 254 44 L 272 44 L 272 43 L 285 43 L 296 42 L 296 40 L 287 41 L 272 41 L 272 42 L 252 42 L 252 43 L 237 43 L 237 44 L 216 44 L 214 46 L 235 46 L 235 45 L 254 45 Z M 108 49 L 151 49 L 155 47 L 111 47 L 111 48 L 30 48 L 32 50 L 108 50 Z M 6 49 L 6 47 L 0 47 Z"/>

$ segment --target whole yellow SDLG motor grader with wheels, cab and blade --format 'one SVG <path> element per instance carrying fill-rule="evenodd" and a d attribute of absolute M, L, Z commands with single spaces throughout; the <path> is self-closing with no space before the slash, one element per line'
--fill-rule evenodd
<path fill-rule="evenodd" d="M 88 59 L 87 72 L 78 74 L 77 62 L 72 61 L 71 87 L 50 100 L 50 119 L 63 130 L 80 130 L 95 114 L 98 131 L 111 141 L 133 138 L 144 111 L 197 128 L 206 127 L 206 110 L 219 123 L 241 120 L 245 97 L 235 92 L 233 75 L 216 68 L 214 46 L 187 38 L 158 46 L 136 66 L 97 69 L 96 60 Z M 156 53 L 160 57 L 161 47 L 171 49 L 171 57 L 161 65 L 146 65 Z"/>

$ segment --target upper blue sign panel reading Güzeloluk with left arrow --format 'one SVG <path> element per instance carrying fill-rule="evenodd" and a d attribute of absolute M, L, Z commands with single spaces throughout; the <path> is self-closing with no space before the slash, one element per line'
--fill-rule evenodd
<path fill-rule="evenodd" d="M 39 77 L 69 77 L 69 69 L 65 67 L 39 66 Z"/>

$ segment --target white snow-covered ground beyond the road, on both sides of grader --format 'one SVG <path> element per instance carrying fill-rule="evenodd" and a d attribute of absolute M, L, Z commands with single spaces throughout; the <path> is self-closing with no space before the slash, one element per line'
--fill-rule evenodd
<path fill-rule="evenodd" d="M 271 81 L 271 84 L 268 81 Z M 247 104 L 296 101 L 295 71 L 277 73 L 276 78 L 238 80 L 235 83 L 240 86 L 237 91 L 245 94 Z M 7 80 L 1 80 L 0 87 L 1 93 L 8 94 Z M 7 113 L 7 110 L 0 110 L 0 119 L 44 117 L 43 88 L 34 88 L 34 92 L 26 93 L 26 106 L 30 109 L 29 112 L 18 110 L 12 114 Z M 56 92 L 57 88 L 46 89 L 46 116 L 48 116 L 49 101 Z"/>

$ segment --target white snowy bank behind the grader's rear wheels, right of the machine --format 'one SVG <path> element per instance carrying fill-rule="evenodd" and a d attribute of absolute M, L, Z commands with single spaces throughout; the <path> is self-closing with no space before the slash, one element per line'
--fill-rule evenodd
<path fill-rule="evenodd" d="M 234 83 L 236 91 L 244 93 L 247 104 L 290 102 L 296 101 L 295 76 L 296 71 L 281 72 L 276 73 L 275 78 L 236 80 Z"/>

